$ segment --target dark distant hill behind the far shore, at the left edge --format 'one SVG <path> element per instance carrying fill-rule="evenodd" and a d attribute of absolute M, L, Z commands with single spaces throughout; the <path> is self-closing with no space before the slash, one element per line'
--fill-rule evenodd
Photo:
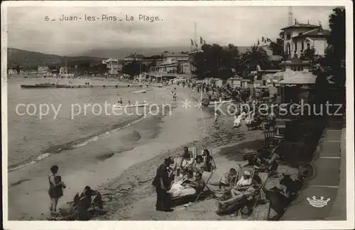
<path fill-rule="evenodd" d="M 16 48 L 7 49 L 7 62 L 8 67 L 16 67 L 19 65 L 23 69 L 37 69 L 38 65 L 48 65 L 48 66 L 62 66 L 65 65 L 65 60 L 67 60 L 67 65 L 79 65 L 84 62 L 89 62 L 90 64 L 102 63 L 104 57 L 88 57 L 88 56 L 77 56 L 77 57 L 65 57 L 60 55 L 49 55 L 45 53 L 38 53 L 28 50 L 19 50 Z"/>

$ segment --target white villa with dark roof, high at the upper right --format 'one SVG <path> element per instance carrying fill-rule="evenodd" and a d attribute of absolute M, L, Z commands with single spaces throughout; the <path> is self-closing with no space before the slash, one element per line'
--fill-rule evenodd
<path fill-rule="evenodd" d="M 327 48 L 327 36 L 329 31 L 324 30 L 322 26 L 311 25 L 310 23 L 298 23 L 282 28 L 284 31 L 284 53 L 291 58 L 302 57 L 305 50 L 315 49 L 315 55 L 324 57 Z"/>

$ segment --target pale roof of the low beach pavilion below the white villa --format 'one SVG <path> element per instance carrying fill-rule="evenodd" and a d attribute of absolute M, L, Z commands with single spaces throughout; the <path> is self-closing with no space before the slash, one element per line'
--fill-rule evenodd
<path fill-rule="evenodd" d="M 288 70 L 284 72 L 283 80 L 280 80 L 278 84 L 315 84 L 316 80 L 317 76 L 310 72 Z"/>

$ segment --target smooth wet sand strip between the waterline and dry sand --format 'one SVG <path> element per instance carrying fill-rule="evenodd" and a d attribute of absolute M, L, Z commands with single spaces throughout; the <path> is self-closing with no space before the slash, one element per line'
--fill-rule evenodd
<path fill-rule="evenodd" d="M 169 95 L 170 90 L 166 90 Z M 179 90 L 179 101 L 189 99 L 190 94 L 192 94 L 190 89 Z M 99 187 L 105 182 L 119 177 L 124 170 L 132 165 L 145 162 L 188 141 L 200 139 L 203 133 L 201 117 L 200 110 L 184 109 L 179 104 L 171 116 L 148 117 L 144 121 L 89 143 L 87 146 L 77 148 L 75 151 L 65 150 L 60 155 L 46 158 L 36 167 L 11 172 L 9 181 L 21 180 L 23 175 L 30 177 L 31 180 L 21 180 L 15 186 L 9 187 L 9 207 L 11 207 L 9 219 L 47 219 L 50 203 L 47 192 L 49 172 L 48 169 L 44 170 L 44 166 L 41 165 L 50 165 L 51 162 L 58 163 L 58 160 L 62 159 L 67 162 L 62 163 L 60 167 L 60 175 L 67 185 L 64 196 L 58 204 L 60 207 L 71 201 L 75 193 L 81 192 L 85 185 L 92 188 Z M 155 124 L 158 122 L 158 126 L 152 126 L 152 122 Z M 137 135 L 136 132 L 139 134 Z M 138 138 L 139 136 L 141 137 Z M 129 141 L 132 141 L 132 138 L 134 139 L 133 144 L 130 145 Z M 98 156 L 99 160 L 96 158 L 94 161 L 89 153 L 98 148 L 103 154 Z M 88 153 L 88 157 L 82 158 L 82 165 L 70 165 L 71 158 L 85 152 Z M 92 163 L 87 164 L 88 160 L 91 160 Z M 41 168 L 40 173 L 38 168 Z"/>

